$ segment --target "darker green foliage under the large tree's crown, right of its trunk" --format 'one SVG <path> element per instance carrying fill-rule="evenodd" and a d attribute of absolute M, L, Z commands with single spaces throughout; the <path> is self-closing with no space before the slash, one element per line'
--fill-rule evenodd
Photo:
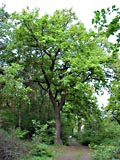
<path fill-rule="evenodd" d="M 101 111 L 98 108 L 97 98 L 93 95 L 93 92 L 94 88 L 89 84 L 76 84 L 76 88 L 69 91 L 64 110 L 69 114 L 80 117 L 80 119 L 83 118 L 85 121 L 91 121 L 93 117 L 94 119 L 99 118 Z"/>

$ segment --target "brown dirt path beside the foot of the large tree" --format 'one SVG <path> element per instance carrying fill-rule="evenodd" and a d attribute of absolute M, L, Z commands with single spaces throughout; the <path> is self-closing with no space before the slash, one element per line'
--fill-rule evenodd
<path fill-rule="evenodd" d="M 56 152 L 60 155 L 55 160 L 91 160 L 89 148 L 76 141 L 73 141 L 70 146 L 57 148 Z"/>

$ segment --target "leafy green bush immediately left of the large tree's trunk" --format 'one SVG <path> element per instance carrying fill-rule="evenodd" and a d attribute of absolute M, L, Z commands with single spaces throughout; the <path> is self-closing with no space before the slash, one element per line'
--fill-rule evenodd
<path fill-rule="evenodd" d="M 49 121 L 46 124 L 40 124 L 39 121 L 32 120 L 35 133 L 33 141 L 37 143 L 53 144 L 55 138 L 55 122 Z"/>

